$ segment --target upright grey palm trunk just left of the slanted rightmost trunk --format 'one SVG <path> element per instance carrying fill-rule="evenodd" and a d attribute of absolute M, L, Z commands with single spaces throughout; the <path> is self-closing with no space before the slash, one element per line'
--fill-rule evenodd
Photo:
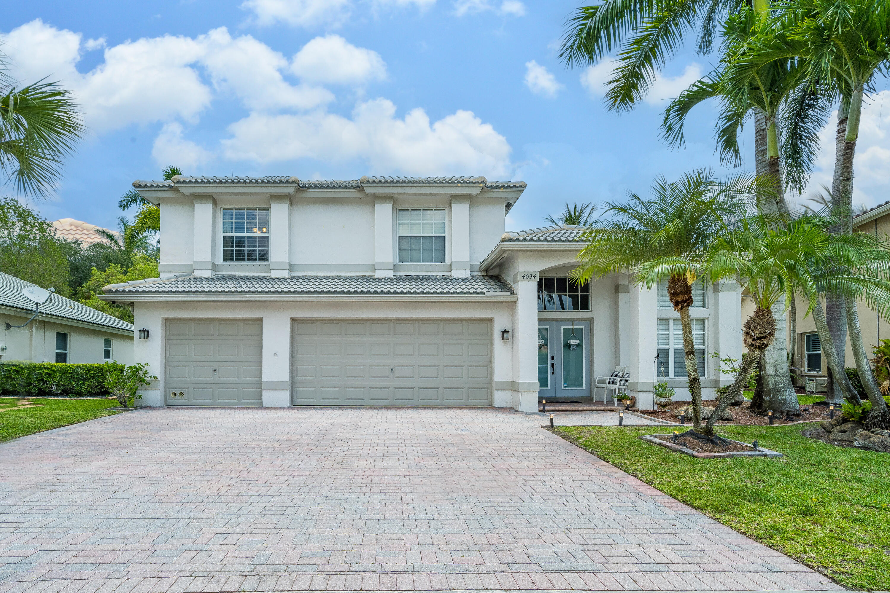
<path fill-rule="evenodd" d="M 848 203 L 849 190 L 853 188 L 853 153 L 847 154 L 846 123 L 849 104 L 841 102 L 837 109 L 837 130 L 835 131 L 835 167 L 834 178 L 831 180 L 831 206 L 840 215 L 838 230 L 841 233 L 849 233 L 852 230 L 853 220 L 850 218 L 852 202 Z M 853 142 L 855 150 L 856 143 Z M 848 230 L 847 228 L 850 228 Z M 844 373 L 846 357 L 846 303 L 844 297 L 828 292 L 825 294 L 825 315 L 828 320 L 831 340 L 836 345 L 836 357 L 841 373 Z M 820 336 L 821 340 L 821 336 Z M 825 341 L 822 341 L 822 351 L 825 351 Z M 838 377 L 829 368 L 828 389 L 825 394 L 827 404 L 840 405 L 844 401 L 844 394 L 840 389 L 840 381 L 845 377 Z"/>

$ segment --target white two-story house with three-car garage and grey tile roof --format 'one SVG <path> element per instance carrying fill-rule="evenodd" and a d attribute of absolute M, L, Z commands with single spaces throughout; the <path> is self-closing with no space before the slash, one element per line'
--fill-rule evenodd
<path fill-rule="evenodd" d="M 662 290 L 568 273 L 581 229 L 505 233 L 519 181 L 482 177 L 135 181 L 159 204 L 160 278 L 132 303 L 142 405 L 494 405 L 590 397 L 616 365 L 652 405 L 655 357 L 684 393 Z M 740 357 L 737 284 L 697 286 L 706 397 Z M 664 302 L 663 302 L 664 301 Z M 142 330 L 145 330 L 142 332 Z M 688 391 L 685 392 L 688 395 Z M 603 397 L 600 390 L 598 397 Z"/>

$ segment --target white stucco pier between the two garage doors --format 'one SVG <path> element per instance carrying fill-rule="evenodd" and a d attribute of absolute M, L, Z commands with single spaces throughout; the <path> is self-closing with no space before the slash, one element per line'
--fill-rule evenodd
<path fill-rule="evenodd" d="M 290 405 L 290 314 L 268 311 L 263 316 L 263 407 Z"/>

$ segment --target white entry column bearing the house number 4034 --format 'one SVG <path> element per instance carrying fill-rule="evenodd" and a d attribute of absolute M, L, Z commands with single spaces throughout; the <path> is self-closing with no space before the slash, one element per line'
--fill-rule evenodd
<path fill-rule="evenodd" d="M 513 288 L 513 407 L 538 412 L 538 272 L 516 272 Z"/>

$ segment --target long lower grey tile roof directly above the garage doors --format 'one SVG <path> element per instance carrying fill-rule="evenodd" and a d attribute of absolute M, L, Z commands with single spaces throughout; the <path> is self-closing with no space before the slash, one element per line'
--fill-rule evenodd
<path fill-rule="evenodd" d="M 106 294 L 468 294 L 512 292 L 498 276 L 185 276 L 109 284 Z"/>

